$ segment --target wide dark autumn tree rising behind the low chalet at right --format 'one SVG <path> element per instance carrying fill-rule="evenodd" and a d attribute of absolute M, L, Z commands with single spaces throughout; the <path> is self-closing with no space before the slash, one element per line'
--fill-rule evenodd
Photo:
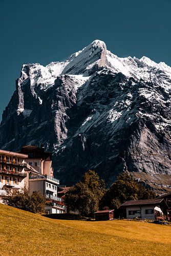
<path fill-rule="evenodd" d="M 121 173 L 101 199 L 100 207 L 108 206 L 117 209 L 118 206 L 127 200 L 152 198 L 155 198 L 155 193 L 151 189 L 136 182 L 128 173 Z"/>

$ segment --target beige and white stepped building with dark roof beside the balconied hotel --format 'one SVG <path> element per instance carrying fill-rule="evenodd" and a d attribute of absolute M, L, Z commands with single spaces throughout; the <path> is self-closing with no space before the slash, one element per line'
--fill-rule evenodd
<path fill-rule="evenodd" d="M 62 199 L 57 196 L 59 180 L 53 178 L 52 153 L 46 152 L 41 145 L 28 145 L 22 147 L 20 153 L 25 153 L 28 158 L 26 163 L 36 170 L 37 174 L 29 175 L 29 192 L 32 195 L 40 191 L 46 197 L 46 212 L 49 214 L 61 214 L 65 212 L 65 205 Z"/>

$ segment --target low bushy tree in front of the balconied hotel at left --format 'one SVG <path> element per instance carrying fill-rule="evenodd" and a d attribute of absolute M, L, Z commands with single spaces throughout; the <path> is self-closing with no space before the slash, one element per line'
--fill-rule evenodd
<path fill-rule="evenodd" d="M 4 196 L 3 202 L 9 206 L 36 213 L 45 211 L 46 199 L 39 191 L 30 196 L 29 190 L 24 187 L 21 190 L 12 191 L 11 195 Z"/>

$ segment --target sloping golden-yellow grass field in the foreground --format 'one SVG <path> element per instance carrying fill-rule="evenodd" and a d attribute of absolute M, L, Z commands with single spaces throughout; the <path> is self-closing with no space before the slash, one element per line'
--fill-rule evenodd
<path fill-rule="evenodd" d="M 171 255 L 171 226 L 53 220 L 0 204 L 0 255 Z"/>

